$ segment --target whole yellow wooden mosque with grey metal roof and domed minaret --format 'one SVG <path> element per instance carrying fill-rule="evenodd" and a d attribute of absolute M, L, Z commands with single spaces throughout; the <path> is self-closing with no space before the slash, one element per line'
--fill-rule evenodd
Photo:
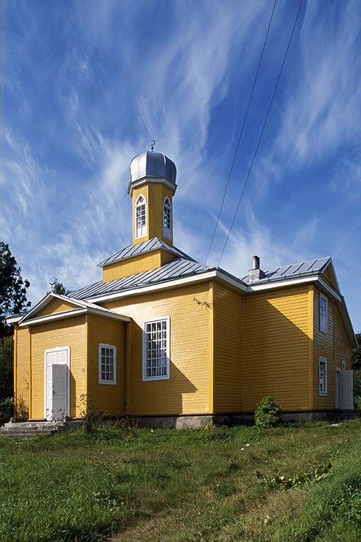
<path fill-rule="evenodd" d="M 176 166 L 130 164 L 133 242 L 103 280 L 49 293 L 14 327 L 17 419 L 79 417 L 82 394 L 108 416 L 188 427 L 244 419 L 272 395 L 285 417 L 352 408 L 357 346 L 330 257 L 241 277 L 173 245 Z"/>

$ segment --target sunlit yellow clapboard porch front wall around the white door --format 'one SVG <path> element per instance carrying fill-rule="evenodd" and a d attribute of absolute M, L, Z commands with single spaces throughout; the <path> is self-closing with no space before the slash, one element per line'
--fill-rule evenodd
<path fill-rule="evenodd" d="M 31 408 L 30 417 L 44 417 L 45 351 L 70 347 L 70 415 L 79 414 L 79 397 L 85 392 L 86 332 L 84 315 L 45 322 L 30 328 Z"/>

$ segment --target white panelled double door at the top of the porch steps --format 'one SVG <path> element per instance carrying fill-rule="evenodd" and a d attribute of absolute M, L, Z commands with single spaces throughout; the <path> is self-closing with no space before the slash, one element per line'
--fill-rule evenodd
<path fill-rule="evenodd" d="M 45 351 L 45 418 L 69 416 L 69 346 Z"/>

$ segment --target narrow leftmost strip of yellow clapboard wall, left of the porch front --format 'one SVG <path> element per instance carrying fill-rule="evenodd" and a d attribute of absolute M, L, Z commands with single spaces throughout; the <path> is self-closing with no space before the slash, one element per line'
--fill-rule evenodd
<path fill-rule="evenodd" d="M 29 417 L 29 331 L 15 326 L 14 334 L 14 415 L 21 419 Z"/>

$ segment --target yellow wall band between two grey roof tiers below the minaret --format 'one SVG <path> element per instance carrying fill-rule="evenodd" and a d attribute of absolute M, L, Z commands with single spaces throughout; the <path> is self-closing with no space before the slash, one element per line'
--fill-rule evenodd
<path fill-rule="evenodd" d="M 116 281 L 118 278 L 158 269 L 173 258 L 173 254 L 159 249 L 147 254 L 139 254 L 132 258 L 116 261 L 114 264 L 103 267 L 103 282 Z"/>

